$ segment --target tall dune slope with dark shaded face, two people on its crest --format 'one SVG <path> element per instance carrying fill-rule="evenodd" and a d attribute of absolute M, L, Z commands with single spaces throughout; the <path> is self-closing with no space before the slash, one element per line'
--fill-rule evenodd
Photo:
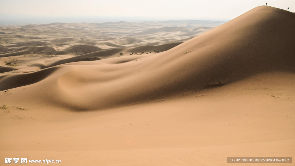
<path fill-rule="evenodd" d="M 27 86 L 34 88 L 24 92 L 16 88 L 9 97 L 94 110 L 179 97 L 262 72 L 294 73 L 294 27 L 294 13 L 258 6 L 165 52 L 120 64 L 111 61 L 124 57 L 63 64 L 50 78 Z M 26 81 L 20 75 L 9 79 Z M 6 79 L 1 78 L 1 84 Z"/>

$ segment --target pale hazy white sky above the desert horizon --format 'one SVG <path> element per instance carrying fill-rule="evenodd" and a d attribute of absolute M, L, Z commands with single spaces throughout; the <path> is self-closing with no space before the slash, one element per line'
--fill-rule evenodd
<path fill-rule="evenodd" d="M 233 19 L 266 2 L 295 12 L 295 0 L 0 0 L 0 13 L 33 17 Z"/>

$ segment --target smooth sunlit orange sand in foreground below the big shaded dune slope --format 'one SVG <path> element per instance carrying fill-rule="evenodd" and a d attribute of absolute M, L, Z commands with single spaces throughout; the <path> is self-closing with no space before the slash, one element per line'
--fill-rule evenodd
<path fill-rule="evenodd" d="M 91 112 L 15 103 L 1 109 L 6 126 L 0 128 L 0 154 L 50 156 L 63 165 L 134 166 L 228 165 L 231 156 L 293 156 L 294 78 L 271 72 L 191 97 Z M 1 92 L 13 94 L 13 89 Z"/>

